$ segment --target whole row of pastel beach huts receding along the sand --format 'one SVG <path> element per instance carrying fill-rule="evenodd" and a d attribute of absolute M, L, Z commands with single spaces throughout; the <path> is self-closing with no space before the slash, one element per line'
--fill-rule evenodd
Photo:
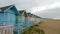
<path fill-rule="evenodd" d="M 40 22 L 40 19 L 40 17 L 34 14 L 27 13 L 26 10 L 18 11 L 15 5 L 0 7 L 0 25 L 12 26 L 12 34 L 21 34 L 24 28 L 36 25 Z"/>

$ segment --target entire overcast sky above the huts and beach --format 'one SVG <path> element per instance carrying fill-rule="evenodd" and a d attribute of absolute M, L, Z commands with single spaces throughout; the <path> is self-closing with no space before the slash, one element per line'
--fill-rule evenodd
<path fill-rule="evenodd" d="M 60 19 L 60 0 L 0 0 L 0 7 L 11 4 L 43 18 Z"/>

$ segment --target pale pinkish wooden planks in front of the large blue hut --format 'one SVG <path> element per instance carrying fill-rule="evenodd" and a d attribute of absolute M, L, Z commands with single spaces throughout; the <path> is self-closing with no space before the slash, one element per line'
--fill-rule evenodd
<path fill-rule="evenodd" d="M 13 26 L 1 25 L 0 26 L 0 34 L 13 34 Z"/>

